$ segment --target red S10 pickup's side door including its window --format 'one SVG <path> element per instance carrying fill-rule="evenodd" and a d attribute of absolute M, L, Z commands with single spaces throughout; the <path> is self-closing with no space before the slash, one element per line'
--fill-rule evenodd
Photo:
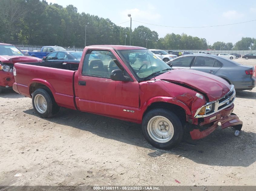
<path fill-rule="evenodd" d="M 93 51 L 101 53 L 102 56 L 95 58 Z M 131 81 L 110 79 L 111 71 L 115 69 L 119 68 L 126 73 L 116 56 L 110 50 L 87 50 L 82 69 L 78 70 L 81 73 L 75 73 L 76 102 L 81 111 L 136 120 L 139 84 L 132 79 Z"/>

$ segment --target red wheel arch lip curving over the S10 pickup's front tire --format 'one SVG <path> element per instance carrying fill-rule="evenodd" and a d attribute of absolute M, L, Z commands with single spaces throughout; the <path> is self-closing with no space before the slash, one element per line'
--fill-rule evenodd
<path fill-rule="evenodd" d="M 142 117 L 145 111 L 148 109 L 148 107 L 152 103 L 156 103 L 156 102 L 166 102 L 166 103 L 171 103 L 171 104 L 180 106 L 185 110 L 186 115 L 192 115 L 191 109 L 189 108 L 189 106 L 186 103 L 182 102 L 181 100 L 174 97 L 157 96 L 157 97 L 151 97 L 142 105 L 140 112 L 138 114 L 138 120 L 142 121 Z"/>

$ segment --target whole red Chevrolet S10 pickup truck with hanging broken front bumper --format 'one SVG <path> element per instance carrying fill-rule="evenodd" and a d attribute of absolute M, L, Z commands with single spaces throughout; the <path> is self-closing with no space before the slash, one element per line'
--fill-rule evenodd
<path fill-rule="evenodd" d="M 161 149 L 181 142 L 186 123 L 194 124 L 192 139 L 204 138 L 218 122 L 222 129 L 242 127 L 232 115 L 233 85 L 204 72 L 172 69 L 142 47 L 86 46 L 79 64 L 15 63 L 14 75 L 13 89 L 32 98 L 39 116 L 66 107 L 142 123 L 147 141 Z"/>

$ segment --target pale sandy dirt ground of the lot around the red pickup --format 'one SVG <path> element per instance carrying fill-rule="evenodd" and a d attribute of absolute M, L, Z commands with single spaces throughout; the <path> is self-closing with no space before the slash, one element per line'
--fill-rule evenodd
<path fill-rule="evenodd" d="M 165 151 L 146 142 L 140 125 L 65 108 L 42 119 L 30 98 L 5 91 L 0 185 L 256 185 L 256 88 L 237 91 L 234 104 L 244 122 L 238 137 L 231 128 L 196 141 L 187 133 Z"/>

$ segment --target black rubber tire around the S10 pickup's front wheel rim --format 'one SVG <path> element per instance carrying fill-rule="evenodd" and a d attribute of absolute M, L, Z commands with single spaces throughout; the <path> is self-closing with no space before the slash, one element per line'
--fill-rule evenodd
<path fill-rule="evenodd" d="M 149 133 L 150 130 L 148 130 L 148 123 L 151 121 L 151 119 L 153 119 L 156 116 L 162 116 L 167 118 L 171 122 L 171 125 L 173 126 L 173 129 L 174 129 L 173 136 L 170 140 L 168 140 L 168 142 L 157 142 L 153 138 L 151 138 L 152 133 Z M 145 114 L 142 120 L 142 132 L 145 139 L 154 147 L 159 149 L 170 149 L 175 147 L 181 142 L 183 138 L 184 129 L 177 115 L 175 115 L 170 110 L 159 108 L 159 109 L 150 110 Z"/>

